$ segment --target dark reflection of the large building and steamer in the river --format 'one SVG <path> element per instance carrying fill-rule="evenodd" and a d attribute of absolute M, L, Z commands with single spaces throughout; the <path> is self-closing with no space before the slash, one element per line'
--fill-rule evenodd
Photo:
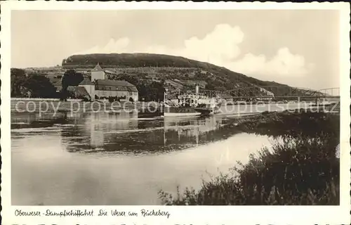
<path fill-rule="evenodd" d="M 137 113 L 91 113 L 61 135 L 69 152 L 161 153 L 197 146 L 222 124 L 216 117 L 144 120 Z"/>

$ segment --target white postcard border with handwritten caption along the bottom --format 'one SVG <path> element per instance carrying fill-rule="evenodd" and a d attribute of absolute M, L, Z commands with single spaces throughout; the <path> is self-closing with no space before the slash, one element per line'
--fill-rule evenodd
<path fill-rule="evenodd" d="M 11 10 L 331 9 L 340 11 L 340 206 L 11 206 Z M 1 217 L 2 224 L 346 224 L 350 222 L 350 4 L 192 2 L 1 2 Z M 165 210 L 164 217 L 15 217 L 15 210 Z"/>

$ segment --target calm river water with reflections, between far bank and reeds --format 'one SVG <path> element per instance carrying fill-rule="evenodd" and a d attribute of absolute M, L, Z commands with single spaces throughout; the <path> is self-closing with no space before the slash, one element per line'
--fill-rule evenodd
<path fill-rule="evenodd" d="M 200 188 L 271 146 L 231 117 L 11 113 L 12 204 L 159 205 L 158 191 Z"/>

